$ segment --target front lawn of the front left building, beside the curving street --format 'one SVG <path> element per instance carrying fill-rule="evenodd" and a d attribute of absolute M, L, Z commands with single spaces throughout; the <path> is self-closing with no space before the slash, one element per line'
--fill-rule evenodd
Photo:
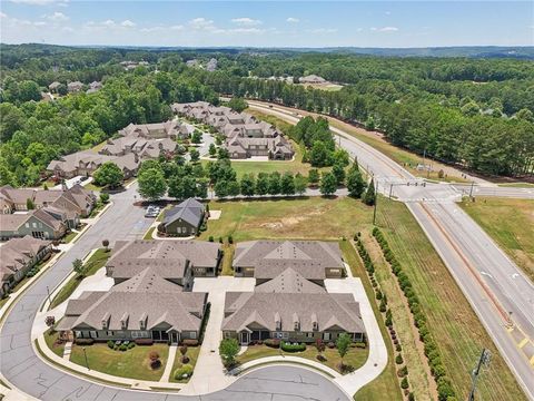
<path fill-rule="evenodd" d="M 159 369 L 152 370 L 150 368 L 150 360 L 148 358 L 150 351 L 159 353 L 161 361 Z M 91 370 L 121 378 L 158 381 L 167 363 L 169 345 L 136 345 L 127 351 L 116 351 L 103 343 L 87 345 L 86 353 Z M 86 366 L 86 359 L 81 345 L 72 345 L 70 361 Z"/>

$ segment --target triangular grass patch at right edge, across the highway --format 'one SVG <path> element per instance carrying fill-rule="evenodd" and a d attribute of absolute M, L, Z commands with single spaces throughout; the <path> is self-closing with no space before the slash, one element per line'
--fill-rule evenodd
<path fill-rule="evenodd" d="M 534 280 L 534 200 L 477 197 L 461 206 Z"/>

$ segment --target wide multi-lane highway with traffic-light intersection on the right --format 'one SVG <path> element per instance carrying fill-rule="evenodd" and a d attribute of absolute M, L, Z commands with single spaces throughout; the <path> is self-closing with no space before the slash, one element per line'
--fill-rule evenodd
<path fill-rule="evenodd" d="M 291 124 L 293 109 L 248 101 L 253 109 Z M 436 184 L 414 177 L 380 151 L 342 129 L 336 141 L 375 179 L 378 190 L 404 202 L 455 277 L 525 394 L 534 400 L 534 285 L 455 202 L 471 185 Z M 408 186 L 409 183 L 409 186 Z M 475 196 L 534 199 L 534 188 L 475 185 Z"/>

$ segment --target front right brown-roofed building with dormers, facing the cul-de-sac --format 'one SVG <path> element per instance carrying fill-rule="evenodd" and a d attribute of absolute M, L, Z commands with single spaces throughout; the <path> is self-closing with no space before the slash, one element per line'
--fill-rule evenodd
<path fill-rule="evenodd" d="M 348 333 L 365 341 L 359 304 L 352 294 L 227 292 L 222 336 L 241 344 L 267 339 L 314 343 Z"/>

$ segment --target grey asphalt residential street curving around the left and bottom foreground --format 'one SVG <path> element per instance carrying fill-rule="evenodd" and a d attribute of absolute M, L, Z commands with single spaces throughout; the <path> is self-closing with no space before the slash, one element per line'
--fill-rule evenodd
<path fill-rule="evenodd" d="M 47 297 L 47 287 L 53 290 L 72 270 L 75 258 L 83 258 L 92 248 L 108 238 L 142 237 L 152 219 L 144 217 L 144 209 L 134 206 L 137 186 L 111 196 L 113 205 L 90 227 L 70 251 L 26 291 L 6 316 L 0 329 L 0 370 L 20 391 L 43 401 L 156 401 L 200 400 L 199 397 L 162 394 L 107 387 L 75 376 L 44 363 L 33 351 L 30 333 L 33 319 Z M 329 379 L 297 366 L 270 366 L 239 378 L 229 388 L 201 400 L 246 401 L 330 401 L 348 398 Z"/>

